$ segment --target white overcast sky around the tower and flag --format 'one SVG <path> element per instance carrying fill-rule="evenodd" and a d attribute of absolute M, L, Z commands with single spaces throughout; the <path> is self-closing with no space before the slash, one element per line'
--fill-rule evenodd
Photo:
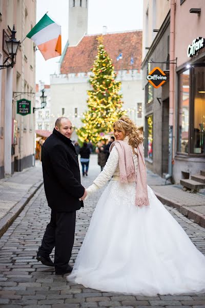
<path fill-rule="evenodd" d="M 142 0 L 88 0 L 88 34 L 142 29 Z M 68 40 L 69 0 L 37 0 L 36 23 L 48 14 L 61 25 L 62 51 Z M 47 61 L 36 51 L 36 83 L 50 84 L 49 75 L 58 73 L 60 57 Z"/>

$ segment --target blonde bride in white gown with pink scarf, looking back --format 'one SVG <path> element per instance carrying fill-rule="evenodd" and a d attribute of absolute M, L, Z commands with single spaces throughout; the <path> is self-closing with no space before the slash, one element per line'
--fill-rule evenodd
<path fill-rule="evenodd" d="M 67 280 L 134 295 L 205 292 L 205 257 L 147 186 L 140 132 L 123 116 L 114 134 L 107 164 L 87 188 L 88 197 L 111 181 Z"/>

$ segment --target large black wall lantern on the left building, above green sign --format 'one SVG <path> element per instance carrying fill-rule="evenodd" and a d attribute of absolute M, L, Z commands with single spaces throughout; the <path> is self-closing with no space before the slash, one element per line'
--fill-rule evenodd
<path fill-rule="evenodd" d="M 9 26 L 8 26 L 8 28 L 9 28 Z M 4 64 L 0 65 L 0 69 L 14 66 L 14 57 L 16 56 L 16 53 L 18 51 L 18 47 L 20 45 L 20 41 L 16 41 L 15 34 L 16 34 L 16 31 L 15 31 L 15 27 L 13 25 L 13 30 L 11 30 L 11 35 L 10 35 L 9 39 L 6 40 L 6 45 L 7 45 L 9 55 L 5 59 Z M 9 58 L 11 59 L 11 63 L 6 65 L 5 63 L 9 60 Z"/>

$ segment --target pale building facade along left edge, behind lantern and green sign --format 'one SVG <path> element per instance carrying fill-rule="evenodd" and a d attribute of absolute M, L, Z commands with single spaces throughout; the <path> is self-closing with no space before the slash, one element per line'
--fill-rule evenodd
<path fill-rule="evenodd" d="M 16 39 L 23 41 L 35 25 L 36 0 L 0 1 L 0 64 L 8 56 L 3 33 L 15 25 Z M 10 60 L 8 60 L 9 63 Z M 31 40 L 20 44 L 13 68 L 0 70 L 0 178 L 34 165 L 35 51 Z M 17 101 L 31 101 L 30 114 L 17 114 Z"/>

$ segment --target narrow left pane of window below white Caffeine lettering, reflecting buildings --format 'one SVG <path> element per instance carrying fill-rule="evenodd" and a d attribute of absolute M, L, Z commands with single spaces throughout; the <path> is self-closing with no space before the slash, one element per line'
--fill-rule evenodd
<path fill-rule="evenodd" d="M 190 71 L 179 75 L 179 126 L 178 126 L 178 151 L 189 151 L 189 79 Z"/>

